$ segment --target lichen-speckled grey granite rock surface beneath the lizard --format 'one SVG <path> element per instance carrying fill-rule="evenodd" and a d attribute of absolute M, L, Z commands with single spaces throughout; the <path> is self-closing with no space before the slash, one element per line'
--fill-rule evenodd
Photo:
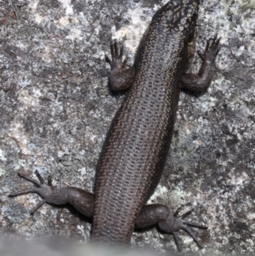
<path fill-rule="evenodd" d="M 165 1 L 166 3 L 166 1 Z M 132 65 L 135 48 L 161 1 L 0 1 L 0 230 L 27 240 L 86 242 L 91 222 L 73 208 L 44 205 L 37 195 L 8 198 L 31 184 L 21 171 L 54 185 L 93 191 L 107 129 L 123 94 L 108 87 L 112 38 Z M 195 230 L 199 250 L 180 232 L 184 254 L 254 253 L 255 3 L 201 4 L 196 48 L 218 33 L 217 72 L 206 94 L 182 94 L 172 156 L 150 202 L 162 202 L 208 225 Z M 163 53 L 162 53 L 163 54 Z M 200 60 L 195 57 L 192 71 Z M 200 96 L 200 97 L 197 97 Z M 173 236 L 155 228 L 133 234 L 133 246 L 175 252 Z"/>

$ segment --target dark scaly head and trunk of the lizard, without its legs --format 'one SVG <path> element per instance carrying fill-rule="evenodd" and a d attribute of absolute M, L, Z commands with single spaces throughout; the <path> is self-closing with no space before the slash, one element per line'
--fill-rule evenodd
<path fill-rule="evenodd" d="M 194 54 L 199 4 L 167 3 L 139 44 L 133 85 L 111 123 L 97 167 L 94 240 L 130 242 L 135 219 L 161 178 L 173 136 L 178 80 Z"/>

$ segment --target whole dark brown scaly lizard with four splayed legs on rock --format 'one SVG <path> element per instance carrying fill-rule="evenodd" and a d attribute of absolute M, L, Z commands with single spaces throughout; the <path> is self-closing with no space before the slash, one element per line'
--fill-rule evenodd
<path fill-rule="evenodd" d="M 134 228 L 158 225 L 172 233 L 180 250 L 177 231 L 183 229 L 201 244 L 188 225 L 196 225 L 165 205 L 145 205 L 161 178 L 173 136 L 178 97 L 184 89 L 205 92 L 210 85 L 219 40 L 207 42 L 197 75 L 186 73 L 195 53 L 196 20 L 199 0 L 175 0 L 154 14 L 144 32 L 132 67 L 122 61 L 123 48 L 111 42 L 111 88 L 127 90 L 127 96 L 114 117 L 99 157 L 94 194 L 76 187 L 54 188 L 51 179 L 44 182 L 19 174 L 37 187 L 13 193 L 19 196 L 37 193 L 43 203 L 71 203 L 84 215 L 93 218 L 92 240 L 128 243 Z"/>

